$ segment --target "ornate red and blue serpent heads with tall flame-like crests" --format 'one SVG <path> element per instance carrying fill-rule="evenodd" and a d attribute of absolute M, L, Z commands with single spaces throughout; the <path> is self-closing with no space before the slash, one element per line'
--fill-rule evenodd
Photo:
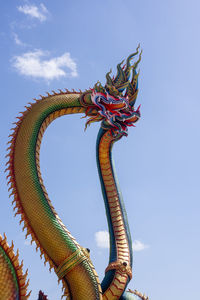
<path fill-rule="evenodd" d="M 134 105 L 138 94 L 139 72 L 136 72 L 136 68 L 142 51 L 138 60 L 131 65 L 132 59 L 139 53 L 139 47 L 129 55 L 125 64 L 122 61 L 117 65 L 115 77 L 110 77 L 111 70 L 106 74 L 104 87 L 97 82 L 89 94 L 82 97 L 82 103 L 88 107 L 86 115 L 91 116 L 86 122 L 86 128 L 92 122 L 102 121 L 102 128 L 111 130 L 114 135 L 127 136 L 128 127 L 134 126 L 140 118 L 140 106 L 135 110 Z M 87 100 L 86 95 L 90 96 L 90 100 Z"/>

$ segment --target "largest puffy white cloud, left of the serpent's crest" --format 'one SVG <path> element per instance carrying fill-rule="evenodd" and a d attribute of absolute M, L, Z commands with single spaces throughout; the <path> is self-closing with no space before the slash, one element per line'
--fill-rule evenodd
<path fill-rule="evenodd" d="M 13 57 L 12 65 L 20 74 L 34 78 L 52 80 L 65 76 L 78 76 L 76 63 L 69 52 L 59 57 L 44 59 L 47 55 L 48 53 L 42 50 L 26 52 L 21 56 Z"/>

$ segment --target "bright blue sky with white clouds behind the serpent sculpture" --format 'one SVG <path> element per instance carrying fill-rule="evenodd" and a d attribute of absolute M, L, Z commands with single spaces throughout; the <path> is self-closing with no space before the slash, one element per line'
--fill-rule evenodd
<path fill-rule="evenodd" d="M 39 94 L 87 89 L 141 43 L 141 120 L 114 147 L 134 241 L 129 288 L 154 300 L 196 298 L 200 269 L 199 53 L 197 0 L 1 1 L 0 232 L 29 269 L 31 300 L 39 289 L 60 299 L 61 287 L 13 217 L 5 174 L 12 122 Z M 99 124 L 63 117 L 41 147 L 43 178 L 58 214 L 91 249 L 102 279 L 107 223 L 95 162 Z M 100 232 L 100 233 L 99 233 Z M 103 232 L 103 233 L 102 233 Z"/>

